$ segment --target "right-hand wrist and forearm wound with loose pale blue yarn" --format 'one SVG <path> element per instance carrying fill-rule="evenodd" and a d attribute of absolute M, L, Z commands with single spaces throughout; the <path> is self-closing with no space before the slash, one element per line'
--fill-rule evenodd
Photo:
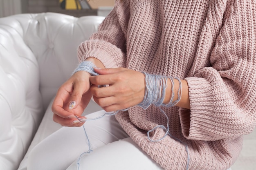
<path fill-rule="evenodd" d="M 155 106 L 190 108 L 189 88 L 186 80 L 180 80 L 178 77 L 143 73 L 146 83 L 145 95 L 138 106 L 144 109 L 151 104 Z"/>

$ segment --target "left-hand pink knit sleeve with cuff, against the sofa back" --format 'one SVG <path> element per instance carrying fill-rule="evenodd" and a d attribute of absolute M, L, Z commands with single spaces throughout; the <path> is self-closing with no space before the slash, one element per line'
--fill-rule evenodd
<path fill-rule="evenodd" d="M 106 68 L 126 66 L 125 31 L 129 18 L 127 11 L 128 3 L 117 0 L 114 9 L 99 25 L 99 30 L 92 34 L 90 40 L 80 44 L 78 48 L 80 62 L 88 57 L 95 57 Z"/>

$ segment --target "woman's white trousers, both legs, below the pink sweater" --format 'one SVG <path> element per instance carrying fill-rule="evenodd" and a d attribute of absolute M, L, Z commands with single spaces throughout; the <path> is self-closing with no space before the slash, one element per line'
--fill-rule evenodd
<path fill-rule="evenodd" d="M 92 152 L 80 157 L 89 150 L 83 127 L 63 127 L 31 151 L 27 170 L 164 170 L 130 139 L 115 116 L 86 121 L 84 126 Z"/>

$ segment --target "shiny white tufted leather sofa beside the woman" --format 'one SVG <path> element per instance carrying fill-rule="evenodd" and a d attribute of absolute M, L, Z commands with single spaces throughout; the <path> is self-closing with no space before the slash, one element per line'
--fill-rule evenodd
<path fill-rule="evenodd" d="M 78 65 L 77 47 L 103 17 L 59 13 L 0 18 L 0 170 L 27 170 L 30 150 L 61 128 L 56 91 Z M 91 102 L 85 113 L 101 110 Z"/>

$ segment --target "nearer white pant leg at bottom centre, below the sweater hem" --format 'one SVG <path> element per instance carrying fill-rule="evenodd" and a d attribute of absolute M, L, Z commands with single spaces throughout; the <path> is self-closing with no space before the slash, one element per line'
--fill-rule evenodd
<path fill-rule="evenodd" d="M 164 170 L 130 137 L 85 153 L 67 170 Z"/>

